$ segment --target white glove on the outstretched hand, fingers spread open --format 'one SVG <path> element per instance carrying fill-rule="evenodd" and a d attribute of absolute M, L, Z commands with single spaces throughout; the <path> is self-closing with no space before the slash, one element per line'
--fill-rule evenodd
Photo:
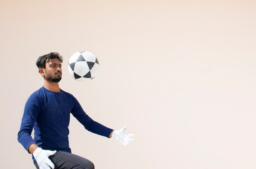
<path fill-rule="evenodd" d="M 135 134 L 128 134 L 125 132 L 126 127 L 123 127 L 121 130 L 114 130 L 112 133 L 112 137 L 119 142 L 121 142 L 124 146 L 127 146 L 130 144 L 130 142 L 133 142 L 133 137 L 135 137 Z"/>

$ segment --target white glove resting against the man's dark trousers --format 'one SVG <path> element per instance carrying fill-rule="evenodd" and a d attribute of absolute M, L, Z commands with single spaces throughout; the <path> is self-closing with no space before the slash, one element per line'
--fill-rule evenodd
<path fill-rule="evenodd" d="M 54 154 L 56 154 L 56 150 L 55 151 L 43 150 L 40 147 L 35 149 L 33 156 L 35 157 L 35 161 L 37 161 L 37 165 L 39 166 L 39 169 L 54 168 L 54 163 L 52 163 L 48 158 L 49 156 L 52 156 Z"/>

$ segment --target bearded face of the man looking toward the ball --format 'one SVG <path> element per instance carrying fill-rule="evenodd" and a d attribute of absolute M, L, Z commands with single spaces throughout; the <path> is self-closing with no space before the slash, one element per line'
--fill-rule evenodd
<path fill-rule="evenodd" d="M 61 62 L 58 58 L 50 58 L 45 63 L 44 78 L 49 82 L 59 82 L 61 81 L 61 75 Z"/>

